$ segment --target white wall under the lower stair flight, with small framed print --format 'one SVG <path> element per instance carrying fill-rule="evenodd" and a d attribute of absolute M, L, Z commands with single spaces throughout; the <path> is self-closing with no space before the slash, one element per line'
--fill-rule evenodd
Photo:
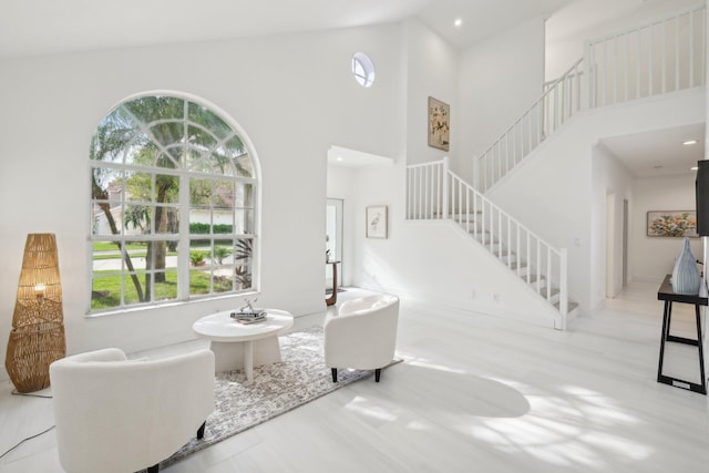
<path fill-rule="evenodd" d="M 403 167 L 362 168 L 354 176 L 360 191 L 356 235 L 364 234 L 364 208 L 389 206 L 389 238 L 359 237 L 354 285 L 471 312 L 554 327 L 551 308 L 511 276 L 486 249 L 452 222 L 404 219 Z"/>

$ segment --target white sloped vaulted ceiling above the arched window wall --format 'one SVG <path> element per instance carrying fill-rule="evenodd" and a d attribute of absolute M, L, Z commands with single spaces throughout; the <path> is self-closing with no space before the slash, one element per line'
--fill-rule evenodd
<path fill-rule="evenodd" d="M 621 0 L 627 1 L 627 0 Z M 636 1 L 636 0 L 633 0 Z M 0 58 L 392 23 L 463 48 L 572 0 L 0 0 Z M 453 20 L 461 18 L 460 29 Z"/>

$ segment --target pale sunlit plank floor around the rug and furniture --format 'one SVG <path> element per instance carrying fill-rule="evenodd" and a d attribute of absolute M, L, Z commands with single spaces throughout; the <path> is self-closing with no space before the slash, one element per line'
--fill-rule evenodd
<path fill-rule="evenodd" d="M 403 301 L 405 362 L 379 384 L 350 384 L 164 471 L 709 471 L 707 397 L 656 382 L 656 286 L 625 290 L 564 332 Z M 681 306 L 674 330 L 690 333 Z M 668 349 L 667 370 L 698 378 L 695 352 Z M 0 453 L 52 423 L 51 400 L 0 391 Z M 53 431 L 0 460 L 2 473 L 61 471 Z"/>

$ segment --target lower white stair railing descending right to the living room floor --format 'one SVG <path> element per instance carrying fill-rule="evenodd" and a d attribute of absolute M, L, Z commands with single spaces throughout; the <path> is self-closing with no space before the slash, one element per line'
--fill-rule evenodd
<path fill-rule="evenodd" d="M 407 219 L 450 219 L 554 305 L 566 327 L 568 270 L 566 248 L 555 248 L 475 191 L 449 168 L 449 158 L 407 166 Z"/>

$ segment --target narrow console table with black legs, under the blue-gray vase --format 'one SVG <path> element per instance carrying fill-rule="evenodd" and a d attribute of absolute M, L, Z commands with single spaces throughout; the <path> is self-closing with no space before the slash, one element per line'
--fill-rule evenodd
<path fill-rule="evenodd" d="M 665 311 L 662 313 L 662 336 L 660 339 L 660 361 L 657 368 L 657 382 L 670 384 L 676 388 L 687 389 L 701 394 L 707 394 L 707 377 L 705 376 L 705 353 L 701 341 L 701 318 L 700 306 L 707 306 L 709 299 L 699 296 L 688 296 L 685 294 L 675 294 L 672 285 L 669 282 L 670 275 L 665 276 L 665 280 L 660 288 L 657 290 L 657 298 L 665 301 Z M 695 316 L 697 321 L 697 339 L 676 337 L 670 335 L 670 323 L 672 321 L 672 302 L 691 304 L 695 306 Z M 698 348 L 699 351 L 699 371 L 701 376 L 701 383 L 695 383 L 685 381 L 681 379 L 672 378 L 662 374 L 662 361 L 665 357 L 665 342 L 671 341 L 676 343 L 691 345 Z"/>

